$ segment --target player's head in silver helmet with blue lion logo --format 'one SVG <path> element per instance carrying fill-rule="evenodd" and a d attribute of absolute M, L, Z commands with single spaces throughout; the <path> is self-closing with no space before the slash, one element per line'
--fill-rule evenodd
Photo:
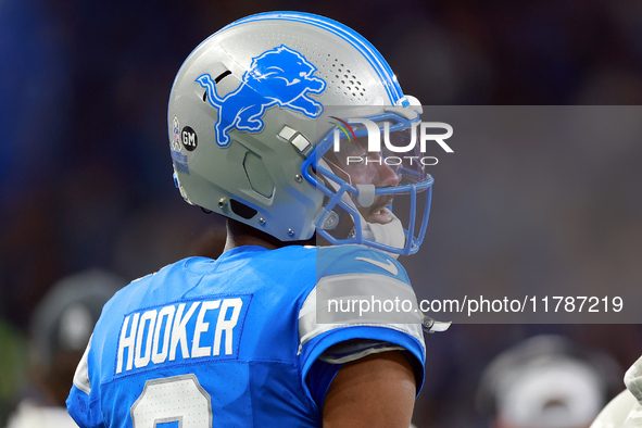
<path fill-rule="evenodd" d="M 284 242 L 316 231 L 414 253 L 432 178 L 399 148 L 417 146 L 420 112 L 352 29 L 305 13 L 249 16 L 203 41 L 176 76 L 176 186 L 189 203 Z M 411 205 L 403 225 L 391 210 L 400 194 Z"/>

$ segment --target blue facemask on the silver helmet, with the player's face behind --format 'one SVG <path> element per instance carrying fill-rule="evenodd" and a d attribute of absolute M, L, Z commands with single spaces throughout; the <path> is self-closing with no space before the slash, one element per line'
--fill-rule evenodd
<path fill-rule="evenodd" d="M 316 175 L 306 171 L 306 162 L 303 176 L 325 197 L 315 225 L 320 238 L 407 255 L 424 239 L 433 180 L 417 143 L 418 112 L 410 106 L 382 110 L 365 121 L 330 116 L 335 127 L 310 156 Z M 403 221 L 392 210 L 400 199 L 411 209 L 398 210 Z M 417 209 L 424 215 L 417 216 Z"/>

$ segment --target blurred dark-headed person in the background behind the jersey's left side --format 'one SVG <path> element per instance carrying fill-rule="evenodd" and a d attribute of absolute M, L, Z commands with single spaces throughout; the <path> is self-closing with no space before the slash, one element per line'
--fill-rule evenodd
<path fill-rule="evenodd" d="M 55 282 L 32 316 L 28 388 L 7 428 L 76 427 L 65 410 L 72 378 L 102 306 L 126 282 L 88 269 Z"/>

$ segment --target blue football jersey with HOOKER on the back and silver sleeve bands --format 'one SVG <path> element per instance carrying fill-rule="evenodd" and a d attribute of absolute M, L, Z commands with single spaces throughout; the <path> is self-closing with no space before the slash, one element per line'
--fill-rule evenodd
<path fill-rule="evenodd" d="M 68 412 L 80 427 L 318 427 L 340 368 L 319 357 L 357 339 L 404 349 L 418 391 L 419 324 L 317 323 L 317 288 L 360 280 L 375 294 L 412 290 L 396 261 L 361 246 L 240 247 L 168 265 L 104 306 Z"/>

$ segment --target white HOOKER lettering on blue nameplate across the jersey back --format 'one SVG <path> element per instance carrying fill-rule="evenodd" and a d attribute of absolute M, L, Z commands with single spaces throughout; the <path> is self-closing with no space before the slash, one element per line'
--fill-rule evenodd
<path fill-rule="evenodd" d="M 125 315 L 114 376 L 186 360 L 237 358 L 251 295 L 181 301 Z"/>

